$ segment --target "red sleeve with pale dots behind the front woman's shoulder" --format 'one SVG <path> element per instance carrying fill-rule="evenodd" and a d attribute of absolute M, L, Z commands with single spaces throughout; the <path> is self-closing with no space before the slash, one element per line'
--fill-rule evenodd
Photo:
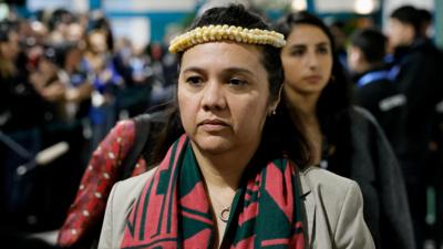
<path fill-rule="evenodd" d="M 58 245 L 71 247 L 81 243 L 91 236 L 96 226 L 101 226 L 107 197 L 112 186 L 121 179 L 119 168 L 123 158 L 133 146 L 135 124 L 133 121 L 120 122 L 95 149 L 83 175 L 75 200 L 62 226 Z M 146 172 L 146 163 L 138 159 L 133 176 Z"/>

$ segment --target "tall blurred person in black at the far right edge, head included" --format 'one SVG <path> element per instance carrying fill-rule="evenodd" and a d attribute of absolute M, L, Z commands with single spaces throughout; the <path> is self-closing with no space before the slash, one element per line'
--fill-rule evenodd
<path fill-rule="evenodd" d="M 435 105 L 443 98 L 442 56 L 431 40 L 423 37 L 422 15 L 412 6 L 395 9 L 388 23 L 389 43 L 394 51 L 394 84 L 406 97 L 401 136 L 394 151 L 405 177 L 409 204 L 413 218 L 416 248 L 424 241 L 426 216 L 425 175 L 430 170 L 432 125 Z"/>

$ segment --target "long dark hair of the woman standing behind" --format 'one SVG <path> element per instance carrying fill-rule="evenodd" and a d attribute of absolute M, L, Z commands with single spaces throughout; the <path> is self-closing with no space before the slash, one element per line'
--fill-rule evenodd
<path fill-rule="evenodd" d="M 344 73 L 343 66 L 339 61 L 338 53 L 334 50 L 336 44 L 333 37 L 328 27 L 319 18 L 310 14 L 307 11 L 290 13 L 277 22 L 276 30 L 282 33 L 285 38 L 288 38 L 292 30 L 297 29 L 297 25 L 299 24 L 308 24 L 319 28 L 330 41 L 330 50 L 332 51 L 331 79 L 321 92 L 318 100 L 317 116 L 319 118 L 320 128 L 326 136 L 328 144 L 336 147 L 333 157 L 329 158 L 329 164 L 336 164 L 337 162 L 337 165 L 342 167 L 347 164 L 346 162 L 349 162 L 348 158 L 351 153 L 349 117 L 349 108 L 351 105 L 351 85 L 348 76 Z M 288 110 L 288 100 L 282 97 L 277 112 L 284 114 L 289 113 L 290 111 Z M 303 128 L 301 128 L 297 122 L 293 122 L 293 125 L 291 125 L 290 128 L 293 129 L 295 126 L 299 127 L 300 131 L 303 131 Z M 292 133 L 288 131 L 288 134 Z M 344 170 L 344 168 L 347 168 L 347 166 L 341 169 Z M 337 169 L 337 172 L 341 169 Z"/>

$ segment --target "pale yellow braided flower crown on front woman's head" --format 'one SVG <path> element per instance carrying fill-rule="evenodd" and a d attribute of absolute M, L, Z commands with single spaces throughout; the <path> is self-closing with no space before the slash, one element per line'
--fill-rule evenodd
<path fill-rule="evenodd" d="M 286 44 L 285 37 L 276 31 L 259 29 L 250 30 L 227 24 L 206 25 L 197 27 L 194 30 L 174 38 L 169 44 L 169 52 L 178 53 L 197 44 L 223 40 L 248 44 L 267 44 L 276 48 L 281 48 Z"/>

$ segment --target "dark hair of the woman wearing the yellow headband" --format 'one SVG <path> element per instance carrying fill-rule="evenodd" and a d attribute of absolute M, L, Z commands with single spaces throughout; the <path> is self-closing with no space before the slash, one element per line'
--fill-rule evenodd
<path fill-rule="evenodd" d="M 243 27 L 247 29 L 272 30 L 271 25 L 267 24 L 260 15 L 246 10 L 245 7 L 241 4 L 231 4 L 228 7 L 218 7 L 209 9 L 194 21 L 189 30 L 193 30 L 197 27 L 205 27 L 210 24 L 214 25 L 227 24 L 227 25 Z M 280 49 L 271 45 L 260 45 L 258 48 L 261 49 L 262 52 L 261 63 L 264 64 L 268 73 L 270 97 L 271 100 L 277 100 L 281 84 L 284 83 L 284 70 L 280 59 Z M 183 53 L 179 53 L 178 54 L 179 63 L 182 61 L 182 56 Z M 163 131 L 162 135 L 159 136 L 156 149 L 154 149 L 154 155 L 153 155 L 154 163 L 158 163 L 159 159 L 163 158 L 171 143 L 174 142 L 184 132 L 183 127 L 181 127 L 177 104 L 171 103 L 168 110 L 169 111 L 167 112 L 169 113 L 169 122 L 168 125 Z M 270 122 L 269 120 L 272 118 L 267 118 L 264 128 L 262 143 L 260 147 L 265 146 L 266 148 L 272 149 L 275 153 L 278 153 L 278 151 L 281 152 L 281 149 L 278 148 L 278 146 L 281 145 L 280 143 L 281 139 L 280 136 L 277 135 L 276 133 L 279 132 L 280 129 L 278 127 L 275 127 L 276 123 Z M 174 127 L 171 127 L 171 124 Z M 179 127 L 175 127 L 177 124 L 179 125 Z M 281 138 L 282 137 L 284 134 L 281 134 Z M 299 142 L 295 146 L 302 148 L 305 144 Z M 292 159 L 305 160 L 306 159 L 305 152 L 306 149 L 299 149 Z"/>

